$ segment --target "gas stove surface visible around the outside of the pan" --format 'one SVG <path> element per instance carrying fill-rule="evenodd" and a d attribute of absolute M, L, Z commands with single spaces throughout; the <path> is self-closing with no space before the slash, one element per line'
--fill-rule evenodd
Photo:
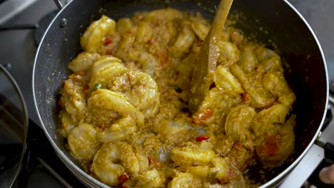
<path fill-rule="evenodd" d="M 320 141 L 334 143 L 334 1 L 290 0 L 300 14 L 310 23 L 318 36 L 328 64 L 330 78 L 330 104 L 327 122 Z M 29 137 L 32 159 L 24 164 L 16 187 L 84 187 L 56 156 L 44 132 L 39 128 L 39 118 L 34 107 L 31 91 L 31 75 L 36 46 L 41 33 L 56 14 L 52 0 L 0 0 L 0 63 L 13 75 L 21 89 L 29 113 Z M 40 148 L 34 143 L 44 142 Z M 318 179 L 318 172 L 328 165 L 324 151 L 313 145 L 303 160 L 278 186 L 325 187 Z M 28 172 L 28 173 L 27 173 Z M 0 180 L 2 181 L 1 177 Z M 0 182 L 1 182 L 0 181 Z M 1 183 L 0 183 L 1 187 Z"/>

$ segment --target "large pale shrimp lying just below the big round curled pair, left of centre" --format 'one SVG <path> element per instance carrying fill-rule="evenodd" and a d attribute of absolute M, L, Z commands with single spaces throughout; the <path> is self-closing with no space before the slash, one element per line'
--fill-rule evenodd
<path fill-rule="evenodd" d="M 97 125 L 113 124 L 113 121 L 119 118 L 134 118 L 138 125 L 143 125 L 144 122 L 143 113 L 131 105 L 123 95 L 111 90 L 97 89 L 91 93 L 91 97 L 88 98 L 88 110 L 91 112 L 92 121 Z M 122 121 L 126 125 L 131 123 L 131 119 Z"/>

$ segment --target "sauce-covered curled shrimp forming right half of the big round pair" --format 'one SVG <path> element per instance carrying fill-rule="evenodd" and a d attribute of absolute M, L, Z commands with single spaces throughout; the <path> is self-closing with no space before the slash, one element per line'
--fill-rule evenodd
<path fill-rule="evenodd" d="M 109 89 L 121 93 L 138 110 L 147 117 L 155 115 L 158 110 L 158 85 L 147 73 L 141 71 L 126 71 L 116 78 Z"/>

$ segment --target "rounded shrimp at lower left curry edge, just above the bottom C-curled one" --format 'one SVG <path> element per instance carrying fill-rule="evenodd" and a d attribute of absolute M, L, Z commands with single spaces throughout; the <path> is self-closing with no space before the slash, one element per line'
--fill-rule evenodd
<path fill-rule="evenodd" d="M 72 155 L 77 159 L 91 161 L 99 148 L 95 135 L 96 129 L 93 125 L 79 122 L 78 127 L 75 127 L 67 138 Z"/>

